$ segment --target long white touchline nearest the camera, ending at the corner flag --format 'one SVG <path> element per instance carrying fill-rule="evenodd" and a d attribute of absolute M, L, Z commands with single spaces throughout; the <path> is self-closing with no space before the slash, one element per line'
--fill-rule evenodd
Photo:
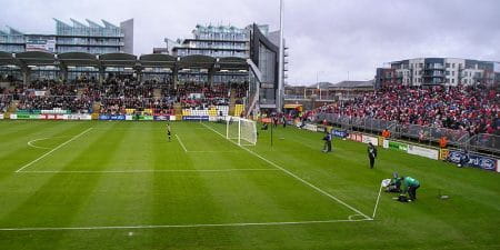
<path fill-rule="evenodd" d="M 0 228 L 0 231 L 64 231 L 64 230 L 120 230 L 120 229 L 162 229 L 162 228 L 217 228 L 217 227 L 259 227 L 259 226 L 289 226 L 289 224 L 318 224 L 338 222 L 361 222 L 359 220 L 311 220 L 283 222 L 249 222 L 249 223 L 207 223 L 207 224 L 140 224 L 140 226 L 103 226 L 103 227 L 61 227 L 61 228 Z"/>

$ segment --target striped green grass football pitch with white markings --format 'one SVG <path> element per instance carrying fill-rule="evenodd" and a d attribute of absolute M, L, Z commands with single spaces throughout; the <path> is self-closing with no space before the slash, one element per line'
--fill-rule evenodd
<path fill-rule="evenodd" d="M 499 249 L 500 176 L 296 128 L 1 121 L 0 249 Z M 418 201 L 380 192 L 392 172 Z M 447 194 L 449 199 L 439 199 Z"/>

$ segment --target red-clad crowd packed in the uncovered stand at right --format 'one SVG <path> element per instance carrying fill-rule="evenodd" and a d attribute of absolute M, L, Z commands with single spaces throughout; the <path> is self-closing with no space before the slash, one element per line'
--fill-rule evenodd
<path fill-rule="evenodd" d="M 476 133 L 500 130 L 500 92 L 484 86 L 392 87 L 316 112 L 373 118 Z"/>

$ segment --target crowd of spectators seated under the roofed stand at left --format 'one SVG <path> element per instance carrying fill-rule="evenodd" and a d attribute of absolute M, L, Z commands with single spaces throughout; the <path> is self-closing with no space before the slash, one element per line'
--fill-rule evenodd
<path fill-rule="evenodd" d="M 9 90 L 2 90 L 13 100 L 19 100 L 18 110 L 48 110 L 60 108 L 78 113 L 90 113 L 93 103 L 100 103 L 100 112 L 124 114 L 127 109 L 143 112 L 171 114 L 173 103 L 181 108 L 200 109 L 209 106 L 228 104 L 230 91 L 236 98 L 246 94 L 244 84 L 208 84 L 184 82 L 173 88 L 166 82 L 139 82 L 132 78 L 112 78 L 102 84 L 92 80 L 79 80 L 72 83 L 54 81 L 32 81 L 29 84 L 12 83 Z M 3 108 L 3 101 L 1 102 Z"/>

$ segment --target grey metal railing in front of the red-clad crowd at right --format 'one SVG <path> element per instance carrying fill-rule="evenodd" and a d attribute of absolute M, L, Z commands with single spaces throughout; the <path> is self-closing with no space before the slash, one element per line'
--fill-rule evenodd
<path fill-rule="evenodd" d="M 396 121 L 348 117 L 337 113 L 318 113 L 316 121 L 321 122 L 323 120 L 343 129 L 366 131 L 376 134 L 380 134 L 382 130 L 388 129 L 394 138 L 418 140 L 429 144 L 439 142 L 442 137 L 447 137 L 448 143 L 457 148 L 467 148 L 478 152 L 500 153 L 500 137 L 494 134 L 480 133 L 470 136 L 463 130 L 418 124 L 400 124 Z"/>

